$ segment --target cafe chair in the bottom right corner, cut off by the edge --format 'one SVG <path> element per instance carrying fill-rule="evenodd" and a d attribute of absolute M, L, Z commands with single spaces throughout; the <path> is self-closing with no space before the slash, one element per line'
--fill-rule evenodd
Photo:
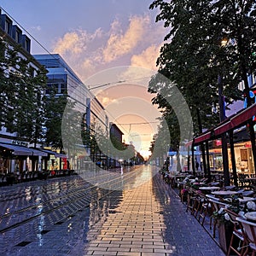
<path fill-rule="evenodd" d="M 247 221 L 245 218 L 236 218 L 242 226 L 243 236 L 247 239 L 248 248 L 252 250 L 252 256 L 256 254 L 256 223 Z M 247 253 L 247 252 L 246 252 Z M 247 255 L 244 253 L 243 255 Z"/>

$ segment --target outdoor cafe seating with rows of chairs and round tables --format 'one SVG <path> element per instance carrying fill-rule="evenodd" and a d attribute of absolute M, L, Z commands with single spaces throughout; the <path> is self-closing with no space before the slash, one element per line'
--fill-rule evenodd
<path fill-rule="evenodd" d="M 177 192 L 184 211 L 216 240 L 226 255 L 256 255 L 256 190 L 252 177 L 236 187 L 181 172 L 164 181 Z M 250 178 L 252 178 L 250 180 Z"/>

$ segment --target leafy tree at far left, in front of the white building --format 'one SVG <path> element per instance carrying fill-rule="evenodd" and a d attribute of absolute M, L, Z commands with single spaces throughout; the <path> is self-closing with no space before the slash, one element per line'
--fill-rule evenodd
<path fill-rule="evenodd" d="M 46 71 L 33 58 L 20 55 L 21 46 L 0 39 L 1 126 L 37 143 L 42 137 Z"/>

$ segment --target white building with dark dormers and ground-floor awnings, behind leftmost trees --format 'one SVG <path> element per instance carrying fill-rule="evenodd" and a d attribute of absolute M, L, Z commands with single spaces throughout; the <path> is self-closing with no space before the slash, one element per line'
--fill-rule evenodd
<path fill-rule="evenodd" d="M 31 53 L 31 39 L 23 34 L 19 26 L 15 25 L 13 20 L 8 15 L 3 14 L 0 9 L 0 38 L 1 42 L 6 45 L 7 49 L 18 49 L 16 57 L 18 61 L 27 61 L 27 67 L 31 67 L 33 72 L 29 76 L 37 75 L 41 65 L 36 61 Z M 5 57 L 8 56 L 7 50 L 3 53 Z M 29 61 L 28 61 L 29 60 Z M 4 76 L 9 78 L 10 72 L 16 73 L 17 76 L 21 73 L 20 67 L 9 67 L 4 71 Z M 16 84 L 13 84 L 14 89 Z M 15 90 L 14 90 L 15 91 Z M 41 92 L 39 92 L 41 93 Z M 43 93 L 43 91 L 42 91 Z M 1 96 L 4 96 L 6 91 L 1 90 Z M 16 95 L 15 95 L 16 96 Z M 9 104 L 9 102 L 7 103 Z M 14 108 L 8 106 L 8 108 Z M 1 109 L 1 112 L 3 109 Z M 3 113 L 1 113 L 3 115 Z M 26 118 L 26 116 L 25 116 Z M 14 120 L 16 121 L 16 119 Z M 18 132 L 10 132 L 9 129 L 2 125 L 0 130 L 0 159 L 3 164 L 0 174 L 7 174 L 12 172 L 28 172 L 41 171 L 44 157 L 48 154 L 34 148 L 35 144 L 31 142 L 26 136 L 20 137 Z M 33 148 L 32 148 L 33 147 Z M 36 147 L 40 147 L 40 143 L 36 143 Z"/>

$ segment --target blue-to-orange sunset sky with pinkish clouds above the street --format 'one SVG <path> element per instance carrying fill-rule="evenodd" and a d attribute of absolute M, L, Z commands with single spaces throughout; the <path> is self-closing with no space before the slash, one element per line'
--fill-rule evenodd
<path fill-rule="evenodd" d="M 148 0 L 0 0 L 32 54 L 60 54 L 106 108 L 126 143 L 148 155 L 160 112 L 148 81 L 167 33 Z M 106 86 L 98 85 L 108 84 Z"/>

